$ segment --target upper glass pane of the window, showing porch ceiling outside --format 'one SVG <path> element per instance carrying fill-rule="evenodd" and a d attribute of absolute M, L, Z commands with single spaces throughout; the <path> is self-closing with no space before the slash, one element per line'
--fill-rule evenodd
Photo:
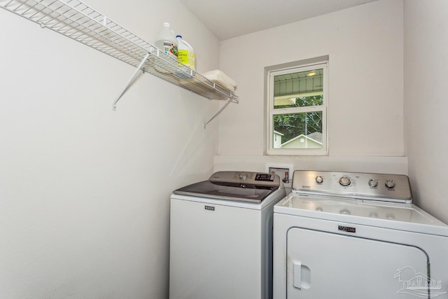
<path fill-rule="evenodd" d="M 322 105 L 322 95 L 323 69 L 274 76 L 274 109 Z"/>

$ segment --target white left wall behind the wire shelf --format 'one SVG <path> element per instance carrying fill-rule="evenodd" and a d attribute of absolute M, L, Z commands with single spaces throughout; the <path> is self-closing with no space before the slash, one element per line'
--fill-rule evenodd
<path fill-rule="evenodd" d="M 218 68 L 178 1 L 87 2 Z M 112 111 L 132 67 L 3 9 L 0 36 L 0 298 L 168 298 L 169 195 L 211 174 L 218 103 L 144 74 Z"/>

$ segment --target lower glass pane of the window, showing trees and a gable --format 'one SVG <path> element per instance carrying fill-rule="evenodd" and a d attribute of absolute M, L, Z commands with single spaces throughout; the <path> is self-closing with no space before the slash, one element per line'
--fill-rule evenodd
<path fill-rule="evenodd" d="M 273 148 L 322 148 L 322 111 L 276 114 L 273 123 Z"/>

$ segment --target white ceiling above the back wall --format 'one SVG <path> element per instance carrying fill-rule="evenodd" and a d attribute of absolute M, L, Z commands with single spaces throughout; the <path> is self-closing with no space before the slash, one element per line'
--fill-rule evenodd
<path fill-rule="evenodd" d="M 378 0 L 180 0 L 223 41 Z"/>

